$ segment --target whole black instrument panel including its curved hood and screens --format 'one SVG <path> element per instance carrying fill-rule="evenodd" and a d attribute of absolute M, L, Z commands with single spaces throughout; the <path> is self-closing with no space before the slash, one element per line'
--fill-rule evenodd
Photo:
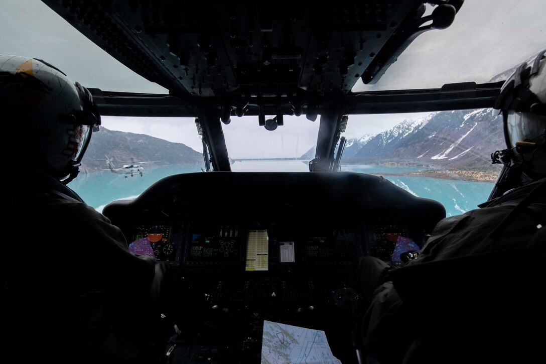
<path fill-rule="evenodd" d="M 211 209 L 219 201 L 222 209 Z M 400 252 L 423 246 L 446 211 L 372 175 L 238 172 L 169 176 L 103 214 L 139 254 L 246 272 L 347 266 L 367 255 L 399 263 Z"/>

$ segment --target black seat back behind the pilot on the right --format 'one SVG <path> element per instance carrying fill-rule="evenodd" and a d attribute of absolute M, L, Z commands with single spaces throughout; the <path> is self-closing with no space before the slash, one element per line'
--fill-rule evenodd
<path fill-rule="evenodd" d="M 406 320 L 414 340 L 404 363 L 539 357 L 546 306 L 536 254 L 501 250 L 396 269 L 393 284 L 414 313 Z"/>

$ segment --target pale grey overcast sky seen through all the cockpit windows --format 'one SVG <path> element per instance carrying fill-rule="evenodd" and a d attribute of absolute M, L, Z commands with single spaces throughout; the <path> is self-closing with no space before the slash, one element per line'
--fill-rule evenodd
<path fill-rule="evenodd" d="M 167 93 L 116 61 L 75 31 L 39 0 L 0 0 L 0 53 L 41 58 L 87 87 L 108 91 Z M 452 26 L 421 34 L 377 85 L 355 85 L 353 91 L 440 87 L 444 83 L 484 83 L 496 74 L 546 48 L 546 1 L 466 0 Z M 345 136 L 378 133 L 421 114 L 352 115 Z M 134 118 L 104 118 L 112 130 L 150 134 L 201 150 L 193 119 L 163 120 L 163 127 Z M 316 143 L 318 120 L 287 118 L 274 132 L 251 118 L 232 118 L 224 126 L 232 157 L 249 151 L 293 156 Z M 240 138 L 247 136 L 246 144 Z M 239 139 L 235 139 L 237 136 Z M 274 152 L 272 152 L 274 151 Z M 259 156 L 259 155 L 257 155 Z"/>

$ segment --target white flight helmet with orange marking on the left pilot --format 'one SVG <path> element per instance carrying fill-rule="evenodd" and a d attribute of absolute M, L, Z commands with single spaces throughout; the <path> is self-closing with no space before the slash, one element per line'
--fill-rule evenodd
<path fill-rule="evenodd" d="M 65 184 L 78 174 L 100 125 L 89 90 L 45 61 L 16 55 L 0 55 L 0 111 L 15 158 Z"/>

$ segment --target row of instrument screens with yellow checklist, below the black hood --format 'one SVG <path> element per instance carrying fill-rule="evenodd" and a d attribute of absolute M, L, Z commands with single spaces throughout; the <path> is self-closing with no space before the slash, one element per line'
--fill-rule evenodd
<path fill-rule="evenodd" d="M 143 224 L 133 228 L 129 250 L 174 266 L 241 266 L 267 271 L 269 266 L 351 265 L 372 255 L 389 263 L 419 249 L 400 224 L 302 224 L 262 226 L 222 222 Z"/>

